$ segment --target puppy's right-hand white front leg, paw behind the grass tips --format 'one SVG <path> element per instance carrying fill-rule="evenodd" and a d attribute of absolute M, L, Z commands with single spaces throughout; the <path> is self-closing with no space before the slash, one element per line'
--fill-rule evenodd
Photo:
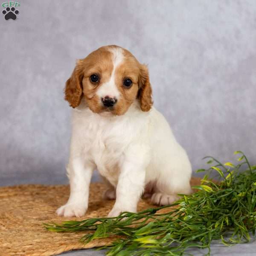
<path fill-rule="evenodd" d="M 116 186 L 116 202 L 108 217 L 118 216 L 120 212 L 137 212 L 137 203 L 144 189 L 145 163 L 145 158 L 138 156 L 124 160 Z"/>

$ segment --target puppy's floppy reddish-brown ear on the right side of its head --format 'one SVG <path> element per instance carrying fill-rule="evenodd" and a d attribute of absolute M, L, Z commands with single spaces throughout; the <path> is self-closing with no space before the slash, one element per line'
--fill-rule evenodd
<path fill-rule="evenodd" d="M 140 99 L 140 108 L 142 111 L 149 111 L 153 105 L 153 100 L 148 68 L 146 65 L 140 66 L 139 88 L 138 98 Z"/>

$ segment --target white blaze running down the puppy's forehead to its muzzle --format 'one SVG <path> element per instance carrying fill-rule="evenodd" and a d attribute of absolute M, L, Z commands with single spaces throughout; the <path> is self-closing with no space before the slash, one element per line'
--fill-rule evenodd
<path fill-rule="evenodd" d="M 115 84 L 115 72 L 116 67 L 118 67 L 122 61 L 123 61 L 123 52 L 122 48 L 116 47 L 111 48 L 109 51 L 112 53 L 112 60 L 113 60 L 113 71 L 111 73 L 111 77 L 109 81 L 105 82 L 99 87 L 99 90 L 97 91 L 97 95 L 100 98 L 104 98 L 105 96 L 109 96 L 110 98 L 116 98 L 119 99 L 119 90 L 117 89 L 117 86 Z"/>

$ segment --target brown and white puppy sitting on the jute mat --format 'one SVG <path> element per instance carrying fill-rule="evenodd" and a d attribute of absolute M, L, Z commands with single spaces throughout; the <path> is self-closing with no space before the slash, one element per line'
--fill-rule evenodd
<path fill-rule="evenodd" d="M 143 192 L 159 205 L 191 192 L 187 154 L 152 106 L 148 69 L 131 52 L 111 45 L 78 60 L 65 99 L 74 108 L 70 197 L 58 215 L 84 215 L 96 168 L 108 184 L 104 197 L 116 199 L 109 217 L 136 212 Z"/>

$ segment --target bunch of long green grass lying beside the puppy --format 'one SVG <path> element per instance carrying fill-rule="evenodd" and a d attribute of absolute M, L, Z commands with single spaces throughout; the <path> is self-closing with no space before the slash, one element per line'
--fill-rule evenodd
<path fill-rule="evenodd" d="M 81 238 L 93 239 L 116 236 L 107 255 L 182 255 L 189 247 L 208 248 L 212 240 L 221 239 L 225 245 L 250 241 L 256 229 L 256 166 L 251 166 L 241 151 L 239 163 L 222 164 L 209 158 L 209 169 L 192 195 L 182 195 L 174 204 L 146 209 L 141 212 L 122 212 L 114 218 L 91 218 L 84 221 L 49 223 L 50 231 L 89 231 Z M 247 169 L 241 172 L 241 166 Z M 212 181 L 212 172 L 220 180 Z M 210 178 L 211 177 L 211 178 Z M 216 180 L 216 177 L 215 177 Z M 173 207 L 176 208 L 173 208 Z M 170 208 L 166 213 L 159 210 Z M 251 232 L 251 233 L 250 233 Z"/>

